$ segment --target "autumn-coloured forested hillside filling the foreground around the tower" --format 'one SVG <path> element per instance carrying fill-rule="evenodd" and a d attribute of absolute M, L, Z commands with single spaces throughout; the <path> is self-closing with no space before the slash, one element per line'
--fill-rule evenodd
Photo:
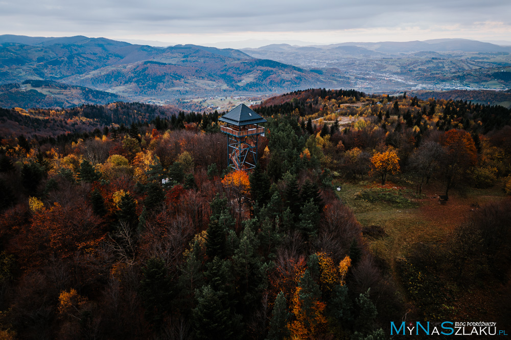
<path fill-rule="evenodd" d="M 250 173 L 226 169 L 218 112 L 3 111 L 61 125 L 0 136 L 0 334 L 369 340 L 390 321 L 508 324 L 509 109 L 325 89 L 253 109 L 268 122 Z M 64 131 L 77 117 L 97 128 Z M 375 207 L 432 223 L 377 225 Z"/>

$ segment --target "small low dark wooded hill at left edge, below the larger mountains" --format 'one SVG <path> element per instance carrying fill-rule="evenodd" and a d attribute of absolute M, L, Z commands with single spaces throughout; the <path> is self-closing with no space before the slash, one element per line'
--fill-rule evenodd
<path fill-rule="evenodd" d="M 28 80 L 0 85 L 2 108 L 70 108 L 82 104 L 126 101 L 123 96 L 55 81 Z"/>

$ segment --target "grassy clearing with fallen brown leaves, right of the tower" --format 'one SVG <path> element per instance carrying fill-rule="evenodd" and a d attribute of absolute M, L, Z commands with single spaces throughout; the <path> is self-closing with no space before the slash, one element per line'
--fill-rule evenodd
<path fill-rule="evenodd" d="M 398 189 L 381 190 L 372 180 L 338 182 L 342 187 L 339 198 L 352 208 L 360 224 L 385 230 L 387 236 L 366 241 L 371 251 L 391 266 L 396 258 L 406 256 L 413 244 L 442 242 L 478 205 L 505 197 L 499 184 L 489 189 L 466 187 L 451 191 L 447 204 L 440 205 L 435 196 L 442 192 L 441 185 L 428 186 L 417 199 L 413 198 L 413 186 L 404 183 L 402 180 L 399 185 L 386 186 Z"/>

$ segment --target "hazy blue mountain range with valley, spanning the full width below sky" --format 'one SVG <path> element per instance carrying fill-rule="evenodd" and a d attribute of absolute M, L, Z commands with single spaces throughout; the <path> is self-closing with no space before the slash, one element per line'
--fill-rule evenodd
<path fill-rule="evenodd" d="M 237 50 L 84 36 L 0 36 L 0 84 L 57 81 L 138 101 L 306 88 L 504 90 L 511 87 L 509 75 L 510 46 L 467 39 Z"/>

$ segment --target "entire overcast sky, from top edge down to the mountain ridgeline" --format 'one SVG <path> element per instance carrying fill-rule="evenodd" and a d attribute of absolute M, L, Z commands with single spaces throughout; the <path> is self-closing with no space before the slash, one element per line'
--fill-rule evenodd
<path fill-rule="evenodd" d="M 511 40 L 510 0 L 0 0 L 0 34 L 257 47 Z"/>

